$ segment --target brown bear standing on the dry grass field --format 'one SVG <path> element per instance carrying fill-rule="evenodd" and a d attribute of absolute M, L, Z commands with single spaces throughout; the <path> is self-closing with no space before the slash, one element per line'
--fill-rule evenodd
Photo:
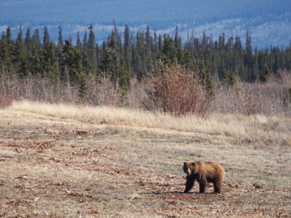
<path fill-rule="evenodd" d="M 225 175 L 223 167 L 214 162 L 184 162 L 183 171 L 187 173 L 187 181 L 184 193 L 194 187 L 194 181 L 197 180 L 200 187 L 200 193 L 205 192 L 207 182 L 212 182 L 214 192 L 220 193 Z"/>

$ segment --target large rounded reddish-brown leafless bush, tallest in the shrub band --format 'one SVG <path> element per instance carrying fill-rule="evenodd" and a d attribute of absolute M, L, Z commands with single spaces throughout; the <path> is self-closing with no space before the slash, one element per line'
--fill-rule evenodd
<path fill-rule="evenodd" d="M 210 96 L 198 75 L 178 63 L 157 62 L 144 81 L 147 95 L 144 106 L 175 115 L 192 113 L 203 117 L 210 106 Z"/>

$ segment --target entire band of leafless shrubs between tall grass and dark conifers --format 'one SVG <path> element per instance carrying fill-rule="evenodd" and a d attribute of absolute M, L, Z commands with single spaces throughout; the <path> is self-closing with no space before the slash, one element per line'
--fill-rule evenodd
<path fill-rule="evenodd" d="M 80 98 L 80 87 L 69 78 L 62 82 L 40 75 L 19 78 L 0 65 L 0 107 L 9 106 L 13 100 L 27 99 L 157 109 L 176 115 L 193 113 L 204 116 L 212 111 L 291 116 L 291 72 L 278 71 L 276 77 L 265 83 L 239 81 L 233 87 L 216 84 L 211 108 L 209 95 L 199 83 L 198 73 L 179 64 L 159 62 L 142 82 L 131 79 L 131 88 L 125 99 L 109 76 L 89 75 L 86 80 L 88 88 L 84 98 Z"/>

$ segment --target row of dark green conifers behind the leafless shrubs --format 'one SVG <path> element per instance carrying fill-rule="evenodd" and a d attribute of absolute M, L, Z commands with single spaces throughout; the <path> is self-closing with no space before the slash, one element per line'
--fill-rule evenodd
<path fill-rule="evenodd" d="M 86 92 L 86 78 L 89 74 L 109 75 L 118 84 L 123 94 L 129 89 L 129 79 L 143 78 L 152 70 L 158 60 L 164 63 L 180 63 L 193 69 L 205 68 L 204 79 L 207 86 L 211 80 L 221 80 L 226 85 L 233 85 L 237 78 L 242 81 L 264 82 L 275 75 L 279 69 L 291 69 L 291 44 L 285 49 L 266 47 L 253 49 L 251 36 L 246 32 L 243 45 L 239 36 L 218 40 L 203 34 L 202 39 L 188 34 L 182 43 L 178 27 L 174 36 L 150 31 L 133 33 L 129 26 L 122 34 L 115 23 L 107 39 L 98 45 L 95 41 L 94 27 L 90 25 L 81 38 L 77 32 L 76 42 L 63 39 L 62 27 L 59 27 L 58 42 L 49 39 L 49 31 L 43 28 L 43 39 L 39 29 L 25 33 L 20 26 L 16 39 L 11 28 L 2 32 L 0 40 L 0 74 L 7 72 L 23 78 L 28 75 L 41 75 L 54 82 L 74 82 L 80 87 L 80 96 Z M 87 32 L 88 31 L 88 32 Z M 202 66 L 201 66 L 202 64 Z M 211 88 L 211 87 L 210 87 Z"/>

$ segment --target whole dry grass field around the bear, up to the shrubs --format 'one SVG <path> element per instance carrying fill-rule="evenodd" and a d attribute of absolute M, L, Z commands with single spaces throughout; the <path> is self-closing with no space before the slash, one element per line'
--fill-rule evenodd
<path fill-rule="evenodd" d="M 222 194 L 183 194 L 184 161 L 215 161 Z M 288 217 L 291 118 L 201 119 L 14 102 L 0 109 L 0 217 Z"/>

